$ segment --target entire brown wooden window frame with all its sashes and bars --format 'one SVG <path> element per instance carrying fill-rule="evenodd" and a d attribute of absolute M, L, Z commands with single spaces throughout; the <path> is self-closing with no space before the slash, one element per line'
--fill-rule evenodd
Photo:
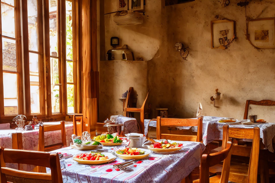
<path fill-rule="evenodd" d="M 15 0 L 15 39 L 16 41 L 16 59 L 17 59 L 17 92 L 18 92 L 18 114 L 24 114 L 28 120 L 33 115 L 38 119 L 46 120 L 64 120 L 66 116 L 71 115 L 67 112 L 67 78 L 66 78 L 66 0 L 57 0 L 57 23 L 58 23 L 58 60 L 59 60 L 59 83 L 60 83 L 60 113 L 52 114 L 51 103 L 51 75 L 50 75 L 50 35 L 49 35 L 49 1 L 37 0 L 38 11 L 38 51 L 29 50 L 28 37 L 28 0 Z M 72 26 L 73 26 L 73 72 L 74 72 L 74 113 L 81 113 L 82 99 L 80 82 L 80 39 L 78 27 L 81 15 L 79 11 L 79 0 L 69 0 L 72 2 Z M 21 4 L 22 2 L 22 4 Z M 81 1 L 80 1 L 81 3 Z M 6 3 L 3 3 L 6 4 Z M 8 5 L 8 4 L 7 4 Z M 9 5 L 10 6 L 10 5 Z M 12 6 L 13 7 L 13 6 Z M 20 7 L 20 8 L 17 8 Z M 21 10 L 20 10 L 21 9 Z M 21 20 L 22 11 L 22 20 Z M 0 9 L 1 13 L 1 9 Z M 43 16 L 44 15 L 44 16 Z M 1 18 L 0 18 L 1 25 Z M 22 27 L 21 27 L 22 25 Z M 0 27 L 0 32 L 1 32 Z M 23 40 L 21 40 L 21 31 Z M 3 36 L 4 37 L 4 36 Z M 9 38 L 9 37 L 8 37 Z M 0 35 L 2 41 L 2 35 Z M 22 41 L 22 42 L 21 42 Z M 47 48 L 47 49 L 46 49 Z M 0 45 L 2 50 L 2 44 Z M 3 61 L 2 51 L 0 50 L 0 81 L 3 81 Z M 40 87 L 40 113 L 31 113 L 30 101 L 30 61 L 29 53 L 38 54 L 39 60 L 39 87 Z M 81 107 L 80 107 L 81 106 Z M 17 115 L 4 115 L 3 83 L 0 85 L 0 123 L 11 121 Z"/>

